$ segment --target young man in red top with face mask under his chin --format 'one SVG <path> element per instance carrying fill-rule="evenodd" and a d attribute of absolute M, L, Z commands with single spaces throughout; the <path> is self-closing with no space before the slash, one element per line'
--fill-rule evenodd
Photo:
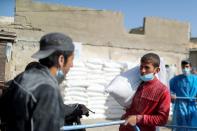
<path fill-rule="evenodd" d="M 160 58 L 157 54 L 148 53 L 141 58 L 140 74 L 142 83 L 138 87 L 130 108 L 126 110 L 120 125 L 120 131 L 134 131 L 137 125 L 140 131 L 155 131 L 156 126 L 165 125 L 170 110 L 170 92 L 162 84 L 156 73 L 159 72 Z"/>

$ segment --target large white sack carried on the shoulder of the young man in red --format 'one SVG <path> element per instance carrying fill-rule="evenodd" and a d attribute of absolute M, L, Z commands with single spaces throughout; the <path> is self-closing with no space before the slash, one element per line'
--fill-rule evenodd
<path fill-rule="evenodd" d="M 121 106 L 128 108 L 141 82 L 140 69 L 136 66 L 114 78 L 107 86 L 106 92 Z"/>

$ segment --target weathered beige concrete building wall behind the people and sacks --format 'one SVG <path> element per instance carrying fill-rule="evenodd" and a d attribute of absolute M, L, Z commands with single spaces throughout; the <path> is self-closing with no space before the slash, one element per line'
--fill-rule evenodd
<path fill-rule="evenodd" d="M 16 0 L 14 23 L 0 24 L 14 32 L 16 42 L 5 80 L 24 70 L 38 50 L 40 37 L 48 32 L 63 32 L 82 43 L 81 59 L 99 58 L 138 63 L 147 52 L 160 55 L 166 64 L 188 58 L 188 23 L 155 17 L 144 18 L 142 33 L 128 33 L 119 12 L 49 5 L 31 0 Z M 2 60 L 0 60 L 2 61 Z M 180 69 L 180 68 L 179 68 Z"/>

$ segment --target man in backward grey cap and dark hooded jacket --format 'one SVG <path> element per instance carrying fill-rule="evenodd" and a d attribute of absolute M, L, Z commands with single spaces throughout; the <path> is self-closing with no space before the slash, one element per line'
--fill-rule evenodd
<path fill-rule="evenodd" d="M 59 90 L 73 66 L 72 39 L 62 33 L 46 34 L 32 57 L 39 62 L 30 63 L 12 80 L 2 97 L 1 116 L 7 122 L 7 131 L 59 131 L 65 120 L 73 119 L 70 116 L 88 115 L 84 105 L 64 105 Z"/>

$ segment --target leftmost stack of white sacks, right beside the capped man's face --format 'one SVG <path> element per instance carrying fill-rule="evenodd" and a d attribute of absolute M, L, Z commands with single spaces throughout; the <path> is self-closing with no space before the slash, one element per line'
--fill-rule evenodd
<path fill-rule="evenodd" d="M 86 88 L 87 82 L 87 68 L 81 61 L 74 61 L 74 67 L 70 69 L 66 76 L 66 80 L 62 86 L 64 90 L 64 103 L 65 104 L 88 104 L 88 95 Z"/>

